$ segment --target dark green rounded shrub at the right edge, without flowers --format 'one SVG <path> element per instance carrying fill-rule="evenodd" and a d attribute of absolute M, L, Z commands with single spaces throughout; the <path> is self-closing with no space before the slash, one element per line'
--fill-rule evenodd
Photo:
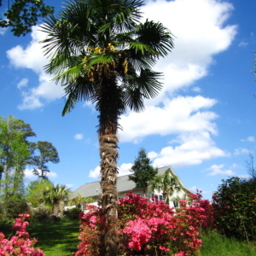
<path fill-rule="evenodd" d="M 213 195 L 217 229 L 226 236 L 252 240 L 256 234 L 256 183 L 231 177 Z"/>

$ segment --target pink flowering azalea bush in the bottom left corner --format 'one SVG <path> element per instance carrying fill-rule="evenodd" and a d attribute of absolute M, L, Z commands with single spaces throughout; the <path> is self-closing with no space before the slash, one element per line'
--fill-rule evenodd
<path fill-rule="evenodd" d="M 0 233 L 0 255 L 44 256 L 42 250 L 33 247 L 37 239 L 30 240 L 26 231 L 28 222 L 25 219 L 30 217 L 29 214 L 20 214 L 19 217 L 13 225 L 13 229 L 16 230 L 15 236 L 6 239 L 3 233 Z"/>

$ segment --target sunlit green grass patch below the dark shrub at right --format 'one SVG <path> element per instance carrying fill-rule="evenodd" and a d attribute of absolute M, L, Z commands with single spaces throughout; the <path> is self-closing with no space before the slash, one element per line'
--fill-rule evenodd
<path fill-rule="evenodd" d="M 216 231 L 207 231 L 202 236 L 200 256 L 256 256 L 253 244 L 227 238 Z"/>

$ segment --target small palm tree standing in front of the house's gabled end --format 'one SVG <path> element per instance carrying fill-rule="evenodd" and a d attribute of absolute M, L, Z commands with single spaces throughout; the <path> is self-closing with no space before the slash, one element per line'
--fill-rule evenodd
<path fill-rule="evenodd" d="M 169 204 L 169 198 L 175 191 L 180 191 L 180 185 L 176 176 L 172 176 L 170 172 L 164 172 L 157 175 L 149 181 L 149 189 L 154 193 L 154 190 L 162 191 L 163 201 Z"/>

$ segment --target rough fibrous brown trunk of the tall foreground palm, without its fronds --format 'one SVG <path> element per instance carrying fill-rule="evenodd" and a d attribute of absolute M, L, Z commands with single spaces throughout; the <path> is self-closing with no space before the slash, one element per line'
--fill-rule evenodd
<path fill-rule="evenodd" d="M 110 75 L 111 76 L 111 75 Z M 119 118 L 119 89 L 114 76 L 102 79 L 99 103 L 99 142 L 101 154 L 102 186 L 102 256 L 116 256 L 119 251 L 117 232 L 118 195 L 117 195 L 117 158 L 118 137 L 116 136 Z"/>

